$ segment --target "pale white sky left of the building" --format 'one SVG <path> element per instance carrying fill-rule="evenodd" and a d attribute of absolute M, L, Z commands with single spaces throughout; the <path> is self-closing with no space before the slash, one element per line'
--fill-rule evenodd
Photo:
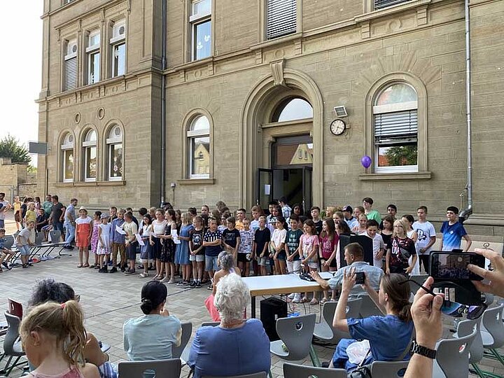
<path fill-rule="evenodd" d="M 1 10 L 0 139 L 10 133 L 27 144 L 38 134 L 43 0 L 2 1 Z M 36 156 L 31 158 L 35 165 Z"/>

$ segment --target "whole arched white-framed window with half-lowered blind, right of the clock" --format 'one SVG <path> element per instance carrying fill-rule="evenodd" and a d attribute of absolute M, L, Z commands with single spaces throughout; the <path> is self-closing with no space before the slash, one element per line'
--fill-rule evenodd
<path fill-rule="evenodd" d="M 402 82 L 378 92 L 373 106 L 374 172 L 418 172 L 418 97 Z"/>

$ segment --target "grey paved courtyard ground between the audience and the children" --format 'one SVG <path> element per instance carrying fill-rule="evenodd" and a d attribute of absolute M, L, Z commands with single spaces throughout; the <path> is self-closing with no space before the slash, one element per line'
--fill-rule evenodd
<path fill-rule="evenodd" d="M 63 256 L 62 258 L 34 264 L 29 269 L 15 268 L 10 272 L 0 274 L 2 295 L 0 295 L 0 309 L 7 309 L 7 297 L 22 302 L 25 309 L 31 289 L 36 281 L 46 277 L 69 283 L 76 293 L 80 295 L 80 304 L 85 312 L 85 326 L 93 332 L 98 339 L 111 345 L 109 351 L 112 362 L 118 362 L 126 358 L 123 350 L 123 323 L 127 318 L 141 315 L 140 291 L 146 279 L 137 276 L 125 276 L 121 273 L 99 274 L 97 270 L 88 268 L 76 268 L 77 256 Z M 204 307 L 204 300 L 210 294 L 206 288 L 184 289 L 174 285 L 167 285 L 168 298 L 167 308 L 170 314 L 174 314 L 181 321 L 193 323 L 193 334 L 201 323 L 211 321 Z M 258 298 L 259 302 L 260 298 Z M 258 303 L 259 307 L 259 303 Z M 307 305 L 295 305 L 289 311 L 315 312 L 320 314 L 321 307 Z M 248 309 L 250 311 L 250 307 Z M 317 321 L 320 321 L 317 316 Z M 447 322 L 447 325 L 449 323 Z M 448 327 L 445 329 L 449 336 Z M 192 339 L 191 339 L 192 340 Z M 190 341 L 191 342 L 191 341 Z M 329 360 L 333 353 L 333 346 L 315 346 L 321 361 Z M 311 365 L 309 358 L 299 361 L 304 365 Z M 272 373 L 274 377 L 282 377 L 283 361 L 272 356 Z M 484 358 L 482 360 L 484 370 L 495 372 L 504 376 L 504 367 L 498 361 Z M 15 370 L 10 376 L 20 377 L 21 370 Z M 188 368 L 183 367 L 181 377 L 186 377 Z"/>

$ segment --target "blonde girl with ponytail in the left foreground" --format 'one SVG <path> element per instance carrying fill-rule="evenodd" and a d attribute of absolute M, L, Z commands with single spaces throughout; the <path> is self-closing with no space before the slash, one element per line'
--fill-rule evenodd
<path fill-rule="evenodd" d="M 79 304 L 45 302 L 22 319 L 23 349 L 35 370 L 32 378 L 99 378 L 98 368 L 84 360 L 86 332 Z"/>

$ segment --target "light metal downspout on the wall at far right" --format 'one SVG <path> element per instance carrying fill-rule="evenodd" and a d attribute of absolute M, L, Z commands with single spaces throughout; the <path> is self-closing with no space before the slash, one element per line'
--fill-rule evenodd
<path fill-rule="evenodd" d="M 465 114 L 467 116 L 468 138 L 468 207 L 459 214 L 462 219 L 467 219 L 472 214 L 472 126 L 471 126 L 471 66 L 470 66 L 470 10 L 469 0 L 464 0 L 465 10 Z"/>

